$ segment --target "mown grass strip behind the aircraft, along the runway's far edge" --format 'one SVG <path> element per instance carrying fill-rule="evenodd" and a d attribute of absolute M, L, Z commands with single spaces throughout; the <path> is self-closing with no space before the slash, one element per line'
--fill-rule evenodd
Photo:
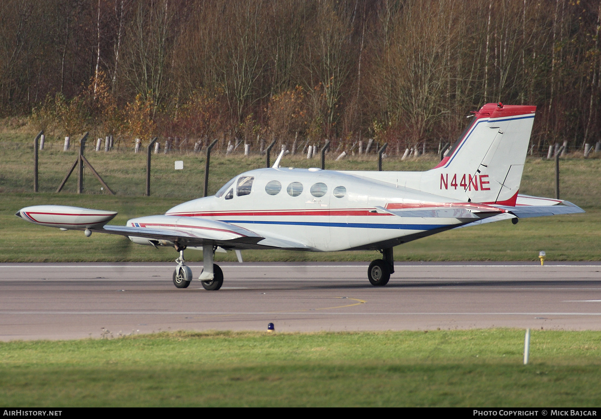
<path fill-rule="evenodd" d="M 42 261 L 172 261 L 171 248 L 135 245 L 124 237 L 41 227 L 14 216 L 17 210 L 35 204 L 67 204 L 119 212 L 112 224 L 124 225 L 135 216 L 165 213 L 180 203 L 177 198 L 112 197 L 75 194 L 0 194 L 0 262 Z M 601 209 L 587 213 L 523 219 L 517 225 L 500 221 L 459 228 L 397 246 L 397 261 L 538 260 L 545 250 L 547 260 L 601 260 Z M 248 261 L 370 261 L 377 252 L 244 251 Z M 201 260 L 198 251 L 186 259 Z M 218 261 L 235 261 L 233 253 L 216 254 Z"/>

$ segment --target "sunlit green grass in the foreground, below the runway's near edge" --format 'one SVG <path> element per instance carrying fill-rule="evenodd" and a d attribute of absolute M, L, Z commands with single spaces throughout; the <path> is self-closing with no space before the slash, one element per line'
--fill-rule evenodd
<path fill-rule="evenodd" d="M 599 332 L 175 332 L 0 343 L 11 406 L 599 406 Z"/>

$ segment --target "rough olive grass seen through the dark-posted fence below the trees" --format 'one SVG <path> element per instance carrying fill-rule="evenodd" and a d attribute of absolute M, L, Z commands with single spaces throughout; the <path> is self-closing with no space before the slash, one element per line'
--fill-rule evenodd
<path fill-rule="evenodd" d="M 97 147 L 96 139 L 88 139 L 84 150 L 82 192 L 85 194 L 108 194 L 109 191 L 96 179 L 93 171 L 117 195 L 145 195 L 147 193 L 148 141 L 141 144 L 136 153 L 131 145 L 114 144 L 105 147 L 103 139 Z M 154 144 L 150 150 L 150 194 L 158 197 L 182 198 L 182 200 L 202 197 L 207 161 L 207 146 L 210 141 L 175 141 L 159 139 L 159 147 Z M 169 142 L 171 143 L 169 145 Z M 322 153 L 325 142 L 297 147 L 294 153 L 282 158 L 282 167 L 310 168 L 322 167 Z M 267 148 L 268 144 L 265 148 Z M 273 164 L 281 148 L 279 144 L 270 151 L 270 164 Z M 311 153 L 309 152 L 311 147 Z M 316 151 L 313 151 L 315 147 Z M 368 153 L 365 148 L 359 154 L 359 147 L 341 151 L 341 147 L 330 147 L 323 154 L 323 166 L 331 170 L 378 170 L 379 154 L 382 153 L 384 171 L 423 171 L 434 167 L 440 161 L 439 150 L 432 150 L 415 156 L 410 151 L 407 156 L 396 154 L 397 150 L 381 149 L 373 144 Z M 215 144 L 210 154 L 208 176 L 209 195 L 215 192 L 231 177 L 243 171 L 266 167 L 266 150 L 246 150 L 244 144 L 221 141 Z M 386 154 L 386 151 L 392 153 Z M 34 191 L 34 141 L 18 141 L 0 136 L 0 192 Z M 308 155 L 312 154 L 310 158 Z M 584 206 L 598 206 L 601 202 L 601 188 L 597 185 L 601 174 L 601 153 L 590 150 L 587 158 L 581 151 L 566 153 L 559 159 L 560 198 Z M 79 142 L 72 141 L 65 151 L 64 138 L 44 139 L 44 147 L 38 151 L 38 191 L 56 192 L 70 169 L 79 159 Z M 78 168 L 64 184 L 63 191 L 78 192 Z M 546 156 L 526 159 L 520 193 L 542 197 L 555 197 L 555 159 Z"/>

